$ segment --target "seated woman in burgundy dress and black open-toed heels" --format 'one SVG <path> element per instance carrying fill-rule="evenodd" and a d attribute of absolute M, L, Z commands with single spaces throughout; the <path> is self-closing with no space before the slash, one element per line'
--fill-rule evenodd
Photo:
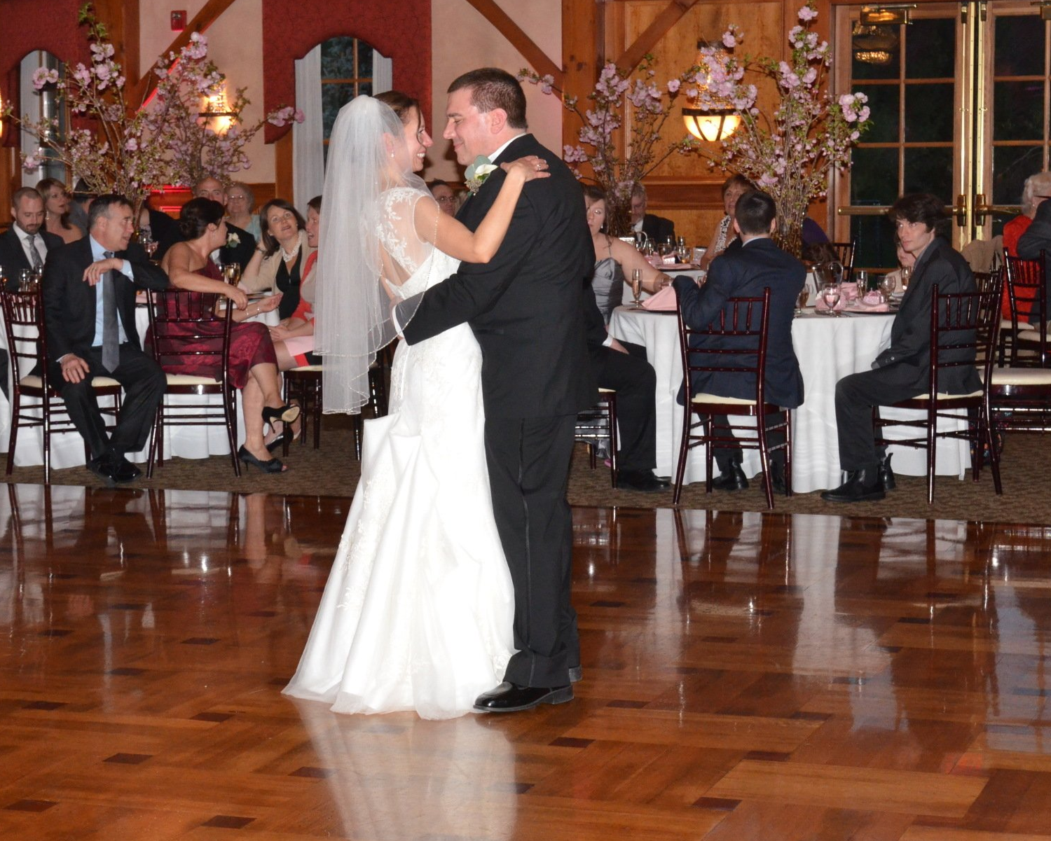
<path fill-rule="evenodd" d="M 161 267 L 168 273 L 171 285 L 192 292 L 215 293 L 229 299 L 236 308 L 232 314 L 236 322 L 230 330 L 230 356 L 227 375 L 233 385 L 241 390 L 245 411 L 245 444 L 238 450 L 238 458 L 270 474 L 282 472 L 285 465 L 277 459 L 269 458 L 264 424 L 277 421 L 291 423 L 300 415 L 298 406 L 286 406 L 281 402 L 281 380 L 277 375 L 277 360 L 273 342 L 266 324 L 245 321 L 245 318 L 273 310 L 280 295 L 249 304 L 247 295 L 222 279 L 219 269 L 209 254 L 226 243 L 225 210 L 219 202 L 210 198 L 191 198 L 179 214 L 185 243 L 171 247 Z M 223 320 L 215 314 L 204 323 L 187 325 L 187 333 L 214 334 L 214 339 L 204 339 L 190 350 L 218 350 L 222 343 Z M 147 335 L 146 342 L 149 343 Z M 202 365 L 199 357 L 187 356 L 185 361 L 164 365 L 169 374 L 191 374 L 214 377 L 218 372 Z"/>

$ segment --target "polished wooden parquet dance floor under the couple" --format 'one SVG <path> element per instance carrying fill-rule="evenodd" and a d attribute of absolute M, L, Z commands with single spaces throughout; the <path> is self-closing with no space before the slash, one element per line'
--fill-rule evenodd
<path fill-rule="evenodd" d="M 280 690 L 349 502 L 0 496 L 0 838 L 1051 841 L 1051 531 L 580 508 L 573 703 Z"/>

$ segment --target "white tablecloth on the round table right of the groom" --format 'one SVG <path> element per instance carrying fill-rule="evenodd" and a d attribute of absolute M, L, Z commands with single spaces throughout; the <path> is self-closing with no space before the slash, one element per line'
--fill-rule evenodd
<path fill-rule="evenodd" d="M 800 492 L 836 487 L 842 481 L 836 427 L 836 383 L 847 374 L 869 371 L 872 359 L 889 342 L 891 315 L 832 318 L 805 315 L 792 321 L 792 343 L 803 373 L 805 401 L 792 414 L 792 489 Z M 676 402 L 682 383 L 679 327 L 674 312 L 658 313 L 618 307 L 610 333 L 622 341 L 642 344 L 657 373 L 657 474 L 675 476 L 682 436 L 682 406 Z M 910 413 L 881 409 L 885 418 Z M 914 415 L 915 413 L 911 413 Z M 906 427 L 887 429 L 887 437 L 914 434 Z M 895 472 L 926 475 L 926 453 L 891 446 Z M 758 450 L 744 450 L 747 476 L 760 472 Z M 966 441 L 939 442 L 936 472 L 963 478 L 970 465 Z M 685 482 L 705 478 L 704 448 L 695 447 L 686 461 Z"/>

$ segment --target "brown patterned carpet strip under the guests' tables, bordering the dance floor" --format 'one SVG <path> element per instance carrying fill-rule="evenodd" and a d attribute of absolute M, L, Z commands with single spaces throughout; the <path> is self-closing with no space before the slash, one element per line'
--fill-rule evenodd
<path fill-rule="evenodd" d="M 934 486 L 934 504 L 927 505 L 926 484 L 922 477 L 899 477 L 898 489 L 880 502 L 833 505 L 823 502 L 817 492 L 800 493 L 791 499 L 775 498 L 778 510 L 794 513 L 831 513 L 865 517 L 926 517 L 945 520 L 982 520 L 998 523 L 1051 525 L 1051 470 L 1048 441 L 1042 436 L 1010 436 L 1004 449 L 1004 496 L 993 492 L 992 477 L 983 471 L 981 481 L 956 481 L 941 477 Z M 159 468 L 151 480 L 142 479 L 137 487 L 167 487 L 200 490 L 227 490 L 238 493 L 291 493 L 324 497 L 351 497 L 357 486 L 358 463 L 354 458 L 353 433 L 346 417 L 326 416 L 322 447 L 292 445 L 287 460 L 290 469 L 280 476 L 243 468 L 241 478 L 233 475 L 229 457 L 207 460 L 174 459 Z M 8 482 L 43 482 L 42 467 L 17 467 Z M 83 467 L 53 470 L 55 484 L 101 485 Z M 590 469 L 586 448 L 578 445 L 570 477 L 569 499 L 573 505 L 620 506 L 627 508 L 671 507 L 671 490 L 662 493 L 638 493 L 615 490 L 605 467 Z M 758 482 L 746 491 L 706 495 L 703 484 L 683 489 L 686 508 L 761 511 L 765 498 Z"/>

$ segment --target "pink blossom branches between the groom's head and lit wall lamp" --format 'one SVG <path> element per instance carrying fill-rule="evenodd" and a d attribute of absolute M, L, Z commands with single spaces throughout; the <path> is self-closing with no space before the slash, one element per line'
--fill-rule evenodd
<path fill-rule="evenodd" d="M 609 196 L 607 219 L 612 233 L 627 231 L 632 189 L 636 184 L 672 154 L 696 151 L 696 142 L 685 131 L 682 138 L 675 141 L 663 138 L 664 123 L 673 113 L 673 105 L 686 90 L 684 85 L 696 71 L 697 67 L 691 67 L 659 86 L 656 82 L 656 61 L 647 55 L 635 68 L 634 78 L 632 71 L 622 70 L 612 62 L 606 64 L 594 90 L 586 97 L 591 104 L 583 109 L 577 97 L 562 94 L 563 105 L 582 124 L 578 133 L 579 144 L 566 145 L 562 157 L 578 178 L 582 178 L 583 173 L 575 165 L 591 165 L 595 182 Z M 539 85 L 544 93 L 557 90 L 551 76 L 541 77 L 523 68 L 518 78 Z M 561 90 L 558 92 L 562 93 Z M 627 105 L 631 105 L 630 117 L 625 117 Z M 624 143 L 618 146 L 619 129 L 625 121 Z"/>

